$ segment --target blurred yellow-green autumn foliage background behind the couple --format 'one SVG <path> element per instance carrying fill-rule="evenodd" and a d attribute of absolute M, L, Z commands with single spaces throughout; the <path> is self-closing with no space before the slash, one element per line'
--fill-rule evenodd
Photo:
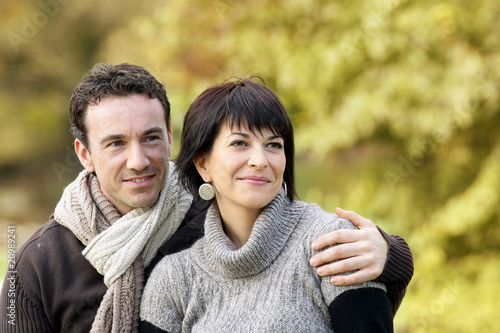
<path fill-rule="evenodd" d="M 403 236 L 397 332 L 491 332 L 500 293 L 500 2 L 0 1 L 0 245 L 81 167 L 68 100 L 96 62 L 161 79 L 174 137 L 207 86 L 260 74 L 294 122 L 301 199 Z M 1 274 L 5 272 L 6 255 Z"/>

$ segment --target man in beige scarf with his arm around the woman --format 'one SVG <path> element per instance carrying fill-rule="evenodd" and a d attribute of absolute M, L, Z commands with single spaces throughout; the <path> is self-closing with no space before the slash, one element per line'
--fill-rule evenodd
<path fill-rule="evenodd" d="M 64 191 L 54 215 L 16 254 L 0 297 L 2 332 L 136 331 L 142 289 L 165 255 L 203 235 L 207 203 L 192 202 L 168 162 L 172 148 L 166 92 L 145 69 L 97 65 L 70 102 L 75 151 L 85 170 Z M 353 212 L 360 229 L 327 234 L 311 258 L 352 284 L 386 284 L 393 312 L 412 275 L 406 242 Z M 12 290 L 13 292 L 9 292 Z"/>

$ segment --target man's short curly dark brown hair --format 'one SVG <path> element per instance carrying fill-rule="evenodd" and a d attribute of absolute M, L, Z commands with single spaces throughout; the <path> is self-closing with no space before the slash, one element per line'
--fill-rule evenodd
<path fill-rule="evenodd" d="M 132 94 L 147 94 L 150 98 L 158 98 L 163 107 L 167 128 L 170 127 L 170 102 L 164 85 L 153 75 L 132 64 L 97 64 L 89 75 L 78 83 L 71 96 L 70 124 L 75 139 L 89 147 L 85 124 L 89 105 L 95 105 L 105 97 L 124 97 Z"/>

